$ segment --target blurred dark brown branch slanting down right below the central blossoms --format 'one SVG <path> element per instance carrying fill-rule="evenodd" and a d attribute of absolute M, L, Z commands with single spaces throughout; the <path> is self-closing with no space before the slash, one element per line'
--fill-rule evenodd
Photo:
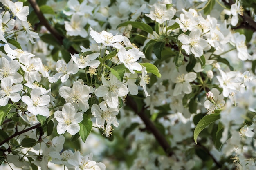
<path fill-rule="evenodd" d="M 152 134 L 155 136 L 155 139 L 162 146 L 166 154 L 168 156 L 173 155 L 170 144 L 166 141 L 165 137 L 161 134 L 161 132 L 159 132 L 159 130 L 155 127 L 153 122 L 144 113 L 144 107 L 142 108 L 141 111 L 138 111 L 136 102 L 130 96 L 127 96 L 126 98 L 126 105 L 132 108 L 132 110 L 139 115 L 139 117 L 142 119 L 142 121 L 146 125 L 146 128 L 150 130 L 150 132 L 152 132 Z"/>

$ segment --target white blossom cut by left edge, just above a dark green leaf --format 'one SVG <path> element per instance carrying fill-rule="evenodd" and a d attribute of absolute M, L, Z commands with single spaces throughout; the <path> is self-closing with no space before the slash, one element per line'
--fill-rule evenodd
<path fill-rule="evenodd" d="M 13 85 L 11 78 L 6 77 L 1 80 L 0 89 L 0 106 L 7 105 L 9 99 L 13 102 L 18 102 L 20 100 L 20 94 L 16 93 L 23 89 L 22 84 Z"/>

